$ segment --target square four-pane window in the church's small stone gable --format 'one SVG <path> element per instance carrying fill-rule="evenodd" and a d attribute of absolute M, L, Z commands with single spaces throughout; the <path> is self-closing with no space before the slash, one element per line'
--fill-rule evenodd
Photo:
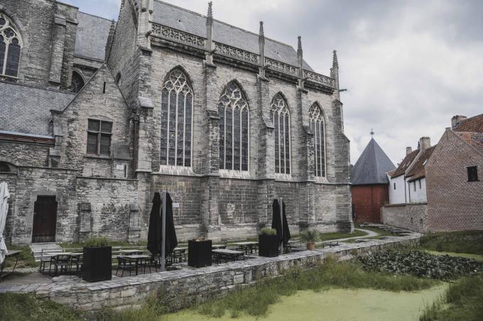
<path fill-rule="evenodd" d="M 112 122 L 89 119 L 87 126 L 87 153 L 109 155 L 111 153 Z"/>

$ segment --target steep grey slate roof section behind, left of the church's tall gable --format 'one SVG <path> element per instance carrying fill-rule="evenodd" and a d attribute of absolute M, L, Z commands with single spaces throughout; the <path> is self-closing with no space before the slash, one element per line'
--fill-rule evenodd
<path fill-rule="evenodd" d="M 107 37 L 112 21 L 87 13 L 77 13 L 77 32 L 74 54 L 85 58 L 104 60 Z"/>

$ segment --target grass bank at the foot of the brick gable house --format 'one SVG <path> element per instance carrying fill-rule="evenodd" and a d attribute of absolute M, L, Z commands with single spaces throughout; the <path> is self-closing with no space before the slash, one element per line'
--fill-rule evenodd
<path fill-rule="evenodd" d="M 428 234 L 420 239 L 421 249 L 483 255 L 483 231 Z"/>

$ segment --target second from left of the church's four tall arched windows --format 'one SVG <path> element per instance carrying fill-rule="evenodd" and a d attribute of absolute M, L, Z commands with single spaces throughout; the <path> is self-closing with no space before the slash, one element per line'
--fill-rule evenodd
<path fill-rule="evenodd" d="M 219 98 L 219 168 L 248 170 L 250 111 L 240 87 L 230 82 Z"/>

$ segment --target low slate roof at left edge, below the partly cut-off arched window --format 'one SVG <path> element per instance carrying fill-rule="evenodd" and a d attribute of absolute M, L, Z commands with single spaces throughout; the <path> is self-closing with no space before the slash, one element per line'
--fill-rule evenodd
<path fill-rule="evenodd" d="M 0 82 L 0 131 L 51 136 L 50 109 L 62 110 L 72 92 Z"/>

